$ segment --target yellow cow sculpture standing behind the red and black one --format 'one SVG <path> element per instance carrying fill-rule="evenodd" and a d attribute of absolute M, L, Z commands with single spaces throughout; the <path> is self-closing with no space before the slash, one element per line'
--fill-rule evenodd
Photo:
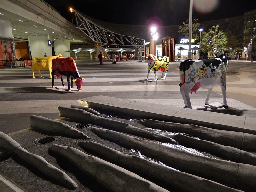
<path fill-rule="evenodd" d="M 52 60 L 57 57 L 63 58 L 62 55 L 60 55 L 60 54 L 56 55 L 56 56 L 50 56 L 50 57 L 33 57 L 32 78 L 35 78 L 35 74 L 34 74 L 35 69 L 38 71 L 40 77 L 43 77 L 42 74 L 40 73 L 40 70 L 48 69 L 50 79 L 52 79 Z"/>

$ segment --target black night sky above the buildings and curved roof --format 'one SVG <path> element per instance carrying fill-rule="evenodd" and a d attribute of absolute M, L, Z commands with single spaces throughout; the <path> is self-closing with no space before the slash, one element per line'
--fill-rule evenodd
<path fill-rule="evenodd" d="M 71 22 L 69 8 L 101 21 L 147 25 L 182 25 L 189 18 L 189 0 L 44 0 Z M 241 16 L 256 9 L 256 0 L 193 0 L 193 19 L 198 22 Z M 74 16 L 74 15 L 73 15 Z"/>

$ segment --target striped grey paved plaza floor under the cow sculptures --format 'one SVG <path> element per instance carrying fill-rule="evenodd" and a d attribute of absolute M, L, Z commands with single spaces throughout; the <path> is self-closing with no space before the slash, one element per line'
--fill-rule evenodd
<path fill-rule="evenodd" d="M 77 100 L 91 96 L 110 96 L 138 100 L 152 105 L 184 107 L 180 94 L 179 62 L 169 63 L 166 80 L 146 82 L 147 62 L 120 61 L 113 65 L 104 61 L 99 65 L 94 60 L 76 60 L 80 75 L 85 78 L 83 90 L 68 92 L 52 88 L 52 79 L 47 70 L 41 70 L 44 78 L 32 78 L 31 67 L 0 69 L 0 131 L 6 134 L 30 127 L 31 115 L 50 119 L 59 118 L 58 106 L 70 107 L 79 104 Z M 157 73 L 160 78 L 161 72 Z M 154 78 L 154 73 L 150 73 Z M 216 110 L 237 116 L 256 117 L 256 62 L 232 60 L 227 71 L 227 103 L 229 108 Z M 67 85 L 67 79 L 64 77 Z M 61 81 L 55 79 L 55 86 Z M 193 106 L 204 106 L 207 90 L 199 89 L 192 94 Z M 213 89 L 210 103 L 222 103 L 219 87 Z M 206 111 L 207 113 L 207 111 Z"/>

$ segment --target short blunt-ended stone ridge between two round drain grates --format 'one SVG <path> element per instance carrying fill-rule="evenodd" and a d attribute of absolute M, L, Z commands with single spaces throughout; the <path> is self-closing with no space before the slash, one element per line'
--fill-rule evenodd
<path fill-rule="evenodd" d="M 59 121 L 48 119 L 41 116 L 30 116 L 30 125 L 32 128 L 36 128 L 41 131 L 54 133 L 56 135 L 63 134 L 68 137 L 76 139 L 91 139 L 83 132 Z"/>

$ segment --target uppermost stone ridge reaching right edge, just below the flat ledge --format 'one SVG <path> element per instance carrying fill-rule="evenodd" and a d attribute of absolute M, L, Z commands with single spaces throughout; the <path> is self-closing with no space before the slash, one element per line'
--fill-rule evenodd
<path fill-rule="evenodd" d="M 153 129 L 187 133 L 199 139 L 212 141 L 221 145 L 232 146 L 246 151 L 256 151 L 256 135 L 253 134 L 223 131 L 197 125 L 164 122 L 152 119 L 145 119 L 140 122 Z"/>

